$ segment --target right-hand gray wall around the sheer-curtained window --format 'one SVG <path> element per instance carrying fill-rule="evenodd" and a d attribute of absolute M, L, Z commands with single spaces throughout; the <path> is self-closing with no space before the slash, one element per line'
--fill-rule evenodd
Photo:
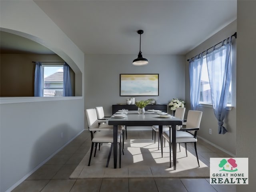
<path fill-rule="evenodd" d="M 218 42 L 221 42 L 225 38 L 228 38 L 236 32 L 236 21 L 232 22 L 214 36 L 210 37 L 208 40 L 194 48 L 188 54 L 186 54 L 186 59 L 192 58 L 197 54 L 203 52 L 204 50 L 212 47 Z M 238 35 L 239 37 L 239 35 Z M 218 122 L 214 116 L 214 111 L 212 107 L 199 106 L 197 110 L 203 112 L 202 121 L 200 125 L 200 131 L 198 136 L 208 140 L 209 142 L 219 146 L 220 148 L 226 150 L 236 155 L 236 39 L 233 37 L 232 41 L 232 110 L 228 111 L 228 115 L 224 120 L 224 126 L 228 129 L 228 132 L 224 135 L 218 134 Z M 190 81 L 189 81 L 189 63 L 186 61 L 186 100 L 190 100 Z M 190 103 L 186 106 L 190 108 Z M 188 111 L 188 110 L 187 110 Z M 212 134 L 209 134 L 209 128 L 212 129 Z"/>

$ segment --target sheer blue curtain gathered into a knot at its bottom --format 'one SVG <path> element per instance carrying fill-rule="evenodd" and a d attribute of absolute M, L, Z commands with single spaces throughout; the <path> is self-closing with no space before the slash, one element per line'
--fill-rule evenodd
<path fill-rule="evenodd" d="M 231 41 L 232 36 L 222 41 L 222 46 L 206 53 L 206 61 L 209 75 L 209 82 L 212 95 L 212 106 L 215 117 L 218 120 L 218 133 L 225 134 L 226 128 L 223 120 L 226 115 L 228 92 L 231 81 Z"/>

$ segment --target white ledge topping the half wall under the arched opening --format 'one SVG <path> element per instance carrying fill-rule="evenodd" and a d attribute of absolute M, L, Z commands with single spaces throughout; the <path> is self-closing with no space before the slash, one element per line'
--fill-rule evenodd
<path fill-rule="evenodd" d="M 77 96 L 77 97 L 1 97 L 0 104 L 74 100 L 74 99 L 82 99 L 82 98 L 83 98 L 82 96 Z"/>

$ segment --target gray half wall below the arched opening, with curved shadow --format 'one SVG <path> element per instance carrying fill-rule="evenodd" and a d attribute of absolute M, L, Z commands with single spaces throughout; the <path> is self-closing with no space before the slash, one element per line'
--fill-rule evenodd
<path fill-rule="evenodd" d="M 1 104 L 0 191 L 29 176 L 84 129 L 83 100 Z"/>

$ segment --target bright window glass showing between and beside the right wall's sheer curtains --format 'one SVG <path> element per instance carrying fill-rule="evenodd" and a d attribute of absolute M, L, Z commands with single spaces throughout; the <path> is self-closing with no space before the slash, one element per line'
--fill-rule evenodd
<path fill-rule="evenodd" d="M 232 62 L 231 62 L 232 66 Z M 231 84 L 232 79 L 229 86 L 229 93 L 228 93 L 228 106 L 231 106 Z M 208 68 L 206 62 L 206 56 L 203 57 L 203 64 L 202 64 L 202 72 L 201 72 L 201 82 L 200 82 L 200 100 L 199 104 L 212 104 L 212 96 L 211 96 L 211 89 L 210 89 L 210 82 L 208 76 Z"/>

